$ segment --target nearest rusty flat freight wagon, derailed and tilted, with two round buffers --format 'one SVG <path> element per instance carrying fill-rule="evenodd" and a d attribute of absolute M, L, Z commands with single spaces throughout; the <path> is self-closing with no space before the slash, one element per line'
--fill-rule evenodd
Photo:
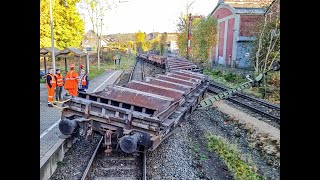
<path fill-rule="evenodd" d="M 144 82 L 131 81 L 126 87 L 79 92 L 63 104 L 59 129 L 64 135 L 82 129 L 88 139 L 99 133 L 107 153 L 112 151 L 112 139 L 126 153 L 154 150 L 194 111 L 208 86 L 207 76 L 177 69 Z"/>

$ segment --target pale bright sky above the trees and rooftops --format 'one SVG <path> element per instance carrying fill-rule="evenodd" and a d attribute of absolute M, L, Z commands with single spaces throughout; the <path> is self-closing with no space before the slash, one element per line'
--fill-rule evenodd
<path fill-rule="evenodd" d="M 176 32 L 180 14 L 186 12 L 187 4 L 194 2 L 189 11 L 207 16 L 218 0 L 121 0 L 117 7 L 106 12 L 102 34 L 142 32 Z M 84 10 L 79 9 L 85 13 Z M 86 20 L 85 32 L 92 29 Z"/>

